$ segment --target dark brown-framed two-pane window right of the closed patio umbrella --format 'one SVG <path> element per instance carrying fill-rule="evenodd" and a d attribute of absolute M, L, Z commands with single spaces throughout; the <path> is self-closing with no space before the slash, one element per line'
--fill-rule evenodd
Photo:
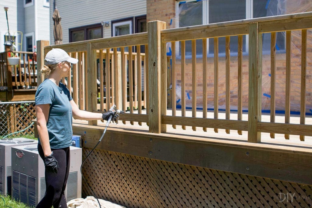
<path fill-rule="evenodd" d="M 92 40 L 103 37 L 103 27 L 99 24 L 69 29 L 69 42 Z"/>

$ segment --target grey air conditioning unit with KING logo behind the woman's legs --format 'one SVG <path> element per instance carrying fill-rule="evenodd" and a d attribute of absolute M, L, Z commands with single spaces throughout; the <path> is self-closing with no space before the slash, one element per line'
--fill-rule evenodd
<path fill-rule="evenodd" d="M 45 168 L 37 145 L 12 148 L 12 199 L 36 206 L 46 192 Z M 66 200 L 81 197 L 82 149 L 70 147 L 70 169 L 66 184 Z"/>

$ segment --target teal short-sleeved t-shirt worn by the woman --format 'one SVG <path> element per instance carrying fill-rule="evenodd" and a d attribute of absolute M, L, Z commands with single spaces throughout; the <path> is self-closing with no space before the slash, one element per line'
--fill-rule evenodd
<path fill-rule="evenodd" d="M 47 128 L 52 149 L 71 146 L 72 109 L 71 94 L 62 83 L 57 86 L 51 80 L 44 80 L 35 94 L 35 104 L 50 104 Z M 38 139 L 40 143 L 40 138 Z"/>

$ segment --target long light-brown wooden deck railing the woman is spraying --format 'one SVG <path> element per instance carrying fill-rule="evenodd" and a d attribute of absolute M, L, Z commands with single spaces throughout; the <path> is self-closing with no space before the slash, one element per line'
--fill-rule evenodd
<path fill-rule="evenodd" d="M 111 38 L 102 38 L 90 41 L 81 41 L 57 46 L 44 47 L 44 53 L 51 48 L 62 48 L 69 52 L 71 56 L 80 61 L 72 67 L 72 84 L 68 87 L 73 88 L 73 98 L 79 104 L 80 108 L 89 111 L 97 110 L 97 84 L 100 82 L 100 110 L 111 106 L 113 103 L 122 106 L 123 110 L 129 107 L 127 112 L 120 119 L 123 121 L 148 123 L 151 133 L 165 133 L 166 124 L 192 126 L 196 131 L 201 127 L 204 131 L 207 128 L 225 129 L 227 133 L 230 130 L 237 130 L 239 134 L 242 131 L 248 131 L 248 142 L 260 142 L 261 132 L 312 136 L 312 125 L 305 124 L 305 75 L 306 75 L 306 48 L 307 48 L 307 29 L 312 28 L 312 12 L 283 15 L 277 17 L 263 17 L 250 20 L 240 20 L 232 22 L 223 22 L 216 24 L 200 25 L 193 27 L 183 27 L 174 29 L 165 29 L 165 23 L 160 21 L 148 22 L 148 33 L 139 33 Z M 301 42 L 301 94 L 300 94 L 300 124 L 290 123 L 290 31 L 299 30 L 302 34 Z M 285 123 L 275 123 L 275 34 L 279 31 L 286 31 L 286 88 L 285 88 Z M 262 79 L 262 33 L 271 33 L 271 122 L 261 121 L 261 79 Z M 248 120 L 242 120 L 242 86 L 246 83 L 242 75 L 242 46 L 243 36 L 248 35 Z M 311 35 L 309 33 L 309 35 Z M 230 36 L 238 36 L 237 63 L 238 68 L 230 68 Z M 219 55 L 218 38 L 226 37 L 225 44 L 225 91 L 221 92 L 218 85 L 219 75 Z M 197 99 L 192 99 L 192 117 L 186 116 L 186 56 L 185 41 L 192 42 L 192 86 L 193 98 L 197 93 L 197 74 L 202 73 L 203 97 L 208 96 L 207 88 L 207 39 L 214 40 L 213 54 L 213 75 L 214 75 L 214 118 L 207 118 L 207 108 L 203 108 L 201 118 L 197 117 Z M 202 50 L 202 69 L 198 69 L 196 41 L 201 39 Z M 171 66 L 167 63 L 166 43 L 171 44 Z M 176 46 L 180 45 L 181 67 L 177 64 Z M 38 44 L 37 44 L 38 45 Z M 145 48 L 145 53 L 140 51 L 141 46 Z M 136 50 L 136 53 L 134 53 Z M 127 51 L 127 52 L 125 52 Z M 38 51 L 40 52 L 40 51 Z M 43 51 L 42 51 L 43 52 Z M 43 55 L 41 55 L 42 59 Z M 40 58 L 40 55 L 39 55 Z M 99 60 L 99 61 L 97 61 Z M 106 60 L 110 60 L 109 62 Z M 285 61 L 286 61 L 285 60 Z M 41 60 L 43 63 L 43 60 Z M 98 64 L 102 63 L 103 64 Z M 142 62 L 144 64 L 142 65 Z M 106 64 L 110 63 L 110 64 Z M 132 63 L 132 64 L 129 64 Z M 188 63 L 189 64 L 189 63 Z M 142 70 L 138 70 L 143 66 Z M 168 68 L 171 67 L 172 77 L 172 115 L 167 115 L 167 84 Z M 181 116 L 177 116 L 175 86 L 177 80 L 177 70 L 181 71 Z M 237 70 L 237 80 L 231 80 L 230 72 Z M 142 73 L 142 74 L 141 74 Z M 128 79 L 128 80 L 127 80 Z M 143 79 L 143 86 L 141 86 Z M 67 79 L 70 80 L 70 79 Z M 64 80 L 65 81 L 65 80 Z M 237 94 L 237 120 L 230 118 L 230 85 L 233 81 L 238 83 Z M 129 89 L 127 90 L 127 87 Z M 142 89 L 143 88 L 143 89 Z M 104 92 L 105 90 L 105 92 Z M 218 99 L 219 94 L 225 94 L 225 119 L 218 118 Z M 104 104 L 104 99 L 106 103 Z M 129 99 L 128 99 L 129 97 Z M 127 102 L 129 101 L 129 104 Z M 142 105 L 137 103 L 143 103 Z M 233 104 L 232 104 L 233 105 Z M 142 113 L 142 106 L 146 108 L 146 114 Z M 207 106 L 207 99 L 203 99 L 203 106 Z M 120 107 L 119 107 L 120 108 Z M 138 108 L 138 112 L 133 111 Z M 107 109 L 107 108 L 106 108 Z M 95 121 L 89 124 L 96 125 Z"/>

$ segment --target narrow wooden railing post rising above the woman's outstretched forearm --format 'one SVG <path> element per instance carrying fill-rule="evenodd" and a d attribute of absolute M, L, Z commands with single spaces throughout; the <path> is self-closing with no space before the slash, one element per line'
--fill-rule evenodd
<path fill-rule="evenodd" d="M 97 110 L 97 89 L 96 89 L 96 50 L 92 50 L 92 43 L 87 44 L 87 82 L 88 85 L 88 111 Z M 89 125 L 97 125 L 97 120 L 88 121 Z"/>

